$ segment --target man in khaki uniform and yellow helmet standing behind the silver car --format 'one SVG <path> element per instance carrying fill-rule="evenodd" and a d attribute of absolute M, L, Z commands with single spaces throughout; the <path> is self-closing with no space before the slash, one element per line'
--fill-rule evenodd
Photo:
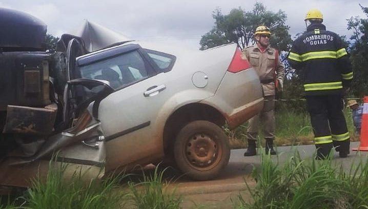
<path fill-rule="evenodd" d="M 262 83 L 264 107 L 258 115 L 249 120 L 247 130 L 248 149 L 244 156 L 256 155 L 256 140 L 259 122 L 263 125 L 265 151 L 276 155 L 273 148 L 275 139 L 275 83 L 277 91 L 282 90 L 284 65 L 279 60 L 278 51 L 270 47 L 271 31 L 268 27 L 258 26 L 254 33 L 256 44 L 243 50 L 243 59 L 247 59 L 257 71 Z"/>

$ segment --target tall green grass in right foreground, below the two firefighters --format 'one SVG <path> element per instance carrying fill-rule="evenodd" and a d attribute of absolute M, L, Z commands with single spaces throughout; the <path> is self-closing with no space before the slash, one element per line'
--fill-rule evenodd
<path fill-rule="evenodd" d="M 302 160 L 298 153 L 279 164 L 269 155 L 252 174 L 252 202 L 239 195 L 236 208 L 368 208 L 368 163 L 353 163 L 350 171 L 333 160 Z"/>

